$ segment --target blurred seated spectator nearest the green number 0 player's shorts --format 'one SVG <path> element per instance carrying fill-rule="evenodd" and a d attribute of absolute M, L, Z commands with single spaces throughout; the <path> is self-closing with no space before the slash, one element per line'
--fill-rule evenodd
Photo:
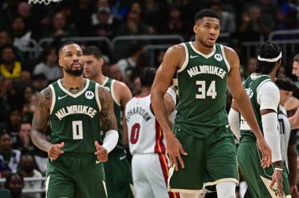
<path fill-rule="evenodd" d="M 25 177 L 42 178 L 43 175 L 38 170 L 34 169 L 35 162 L 32 155 L 22 155 L 20 161 L 20 175 Z M 24 190 L 41 190 L 43 181 L 24 181 Z M 41 198 L 41 193 L 27 193 L 26 198 Z"/>

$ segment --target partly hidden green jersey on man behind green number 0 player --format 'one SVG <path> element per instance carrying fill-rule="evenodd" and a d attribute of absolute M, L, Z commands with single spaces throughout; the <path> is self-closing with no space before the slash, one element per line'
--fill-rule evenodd
<path fill-rule="evenodd" d="M 102 86 L 107 87 L 109 92 L 111 93 L 112 100 L 114 103 L 114 113 L 115 113 L 115 117 L 117 119 L 117 131 L 118 131 L 118 135 L 119 135 L 116 148 L 123 149 L 124 146 L 122 144 L 122 106 L 115 98 L 114 84 L 115 84 L 115 79 L 106 77 Z"/>

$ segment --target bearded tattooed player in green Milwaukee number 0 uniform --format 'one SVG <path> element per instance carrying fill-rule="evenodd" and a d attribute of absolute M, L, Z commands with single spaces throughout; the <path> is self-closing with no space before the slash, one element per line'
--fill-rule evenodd
<path fill-rule="evenodd" d="M 82 77 L 83 64 L 77 43 L 61 45 L 59 66 L 64 77 L 41 91 L 34 112 L 31 139 L 50 158 L 45 187 L 49 198 L 107 197 L 102 162 L 117 144 L 117 121 L 110 93 Z M 43 134 L 48 120 L 50 142 Z M 101 129 L 103 145 L 99 145 Z"/>

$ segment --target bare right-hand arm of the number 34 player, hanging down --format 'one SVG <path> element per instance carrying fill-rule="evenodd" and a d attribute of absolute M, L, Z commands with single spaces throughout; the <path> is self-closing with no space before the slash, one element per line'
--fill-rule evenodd
<path fill-rule="evenodd" d="M 238 111 L 242 114 L 244 119 L 249 124 L 251 130 L 254 132 L 254 135 L 256 136 L 258 148 L 261 149 L 263 154 L 263 159 L 261 160 L 262 166 L 269 167 L 272 158 L 271 150 L 268 144 L 265 142 L 262 132 L 258 127 L 256 116 L 254 115 L 254 111 L 251 107 L 251 102 L 242 85 L 240 72 L 239 72 L 239 67 L 240 67 L 239 57 L 233 49 L 228 47 L 225 47 L 224 49 L 225 49 L 224 51 L 225 51 L 226 58 L 228 59 L 228 63 L 231 66 L 231 70 L 228 73 L 228 88 L 231 90 L 233 100 L 235 101 L 235 106 L 238 108 Z"/>

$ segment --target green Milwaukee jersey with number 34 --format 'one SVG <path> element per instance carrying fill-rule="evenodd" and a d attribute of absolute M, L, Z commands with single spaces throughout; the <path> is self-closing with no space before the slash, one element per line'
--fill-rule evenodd
<path fill-rule="evenodd" d="M 186 59 L 173 79 L 178 99 L 175 125 L 206 138 L 228 123 L 225 106 L 230 66 L 223 45 L 215 44 L 208 55 L 196 50 L 192 42 L 182 45 Z"/>

